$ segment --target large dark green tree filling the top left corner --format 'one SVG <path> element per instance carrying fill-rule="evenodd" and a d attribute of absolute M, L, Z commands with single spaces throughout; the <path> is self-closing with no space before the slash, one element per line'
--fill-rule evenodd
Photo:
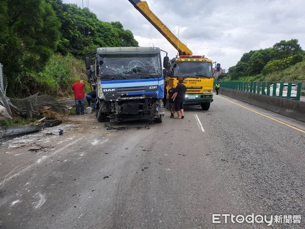
<path fill-rule="evenodd" d="M 2 0 L 0 62 L 8 77 L 8 93 L 19 94 L 29 71 L 40 71 L 58 40 L 58 22 L 44 0 Z"/>

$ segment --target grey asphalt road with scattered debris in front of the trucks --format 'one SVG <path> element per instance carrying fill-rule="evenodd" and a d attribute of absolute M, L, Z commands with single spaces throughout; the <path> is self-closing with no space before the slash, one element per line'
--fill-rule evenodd
<path fill-rule="evenodd" d="M 0 146 L 1 228 L 267 227 L 212 223 L 252 213 L 300 215 L 272 227 L 305 227 L 304 123 L 225 96 L 208 111 L 187 107 L 184 120 L 166 112 L 150 129 L 73 121 L 63 135 L 46 134 L 56 127 Z"/>

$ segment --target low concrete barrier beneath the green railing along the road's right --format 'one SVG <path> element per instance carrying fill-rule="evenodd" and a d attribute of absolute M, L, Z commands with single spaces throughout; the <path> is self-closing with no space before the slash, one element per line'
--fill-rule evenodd
<path fill-rule="evenodd" d="M 305 122 L 305 102 L 221 88 L 219 93 Z"/>

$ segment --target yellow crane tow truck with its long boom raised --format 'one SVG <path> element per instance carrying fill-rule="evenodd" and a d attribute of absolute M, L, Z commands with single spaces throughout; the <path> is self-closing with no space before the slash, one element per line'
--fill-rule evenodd
<path fill-rule="evenodd" d="M 164 93 L 176 87 L 178 76 L 184 77 L 187 88 L 185 104 L 201 105 L 208 110 L 213 101 L 214 72 L 212 61 L 204 55 L 193 55 L 193 52 L 169 30 L 169 28 L 151 11 L 145 1 L 128 0 L 155 28 L 178 50 L 179 55 L 170 61 L 167 72 L 164 72 Z M 220 71 L 217 64 L 215 71 Z M 166 96 L 165 96 L 166 97 Z"/>

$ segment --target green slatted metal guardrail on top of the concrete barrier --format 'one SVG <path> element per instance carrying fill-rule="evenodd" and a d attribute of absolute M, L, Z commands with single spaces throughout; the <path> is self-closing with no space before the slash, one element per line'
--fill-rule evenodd
<path fill-rule="evenodd" d="M 214 82 L 214 85 L 216 82 Z M 277 90 L 272 90 L 272 95 L 270 95 L 270 85 L 277 85 L 277 82 L 240 82 L 240 81 L 219 81 L 221 88 L 227 88 L 232 89 L 236 91 L 242 91 L 242 92 L 248 92 L 248 93 L 254 93 L 254 94 L 261 94 L 261 95 L 267 95 L 272 97 L 279 97 L 283 98 L 283 90 L 285 92 L 287 91 L 287 96 L 284 97 L 286 99 L 291 99 L 291 88 L 292 88 L 292 82 L 288 82 L 287 89 L 284 89 L 284 82 L 280 82 L 280 88 L 279 88 L 279 95 L 277 95 Z M 296 101 L 300 100 L 301 93 L 305 92 L 305 90 L 302 90 L 302 82 L 297 82 L 297 92 L 296 92 Z M 265 92 L 266 90 L 266 92 Z"/>

